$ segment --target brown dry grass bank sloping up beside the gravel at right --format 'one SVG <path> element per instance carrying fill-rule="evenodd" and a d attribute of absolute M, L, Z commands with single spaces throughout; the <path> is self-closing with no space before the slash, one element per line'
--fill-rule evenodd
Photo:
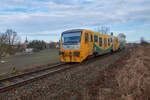
<path fill-rule="evenodd" d="M 130 51 L 130 50 L 129 50 Z M 140 45 L 99 72 L 86 100 L 150 100 L 150 46 Z"/>

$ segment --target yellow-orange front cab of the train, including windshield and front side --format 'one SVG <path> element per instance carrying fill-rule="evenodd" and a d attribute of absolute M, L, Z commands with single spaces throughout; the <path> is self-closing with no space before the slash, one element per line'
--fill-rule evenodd
<path fill-rule="evenodd" d="M 78 33 L 81 33 L 81 35 L 79 35 Z M 78 36 L 80 36 L 80 38 L 76 36 L 77 34 Z M 68 40 L 69 38 L 74 39 L 74 36 L 80 39 L 77 43 L 78 45 L 76 43 L 67 44 L 67 39 Z M 92 32 L 88 30 L 69 31 L 66 33 L 62 33 L 59 52 L 61 62 L 82 62 L 89 55 L 92 55 L 93 54 L 92 36 L 93 36 Z"/>

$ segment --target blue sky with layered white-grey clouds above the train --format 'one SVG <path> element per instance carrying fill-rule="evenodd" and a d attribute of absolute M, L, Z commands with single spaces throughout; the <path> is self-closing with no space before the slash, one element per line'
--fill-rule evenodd
<path fill-rule="evenodd" d="M 18 32 L 24 41 L 57 41 L 62 31 L 109 26 L 127 41 L 150 40 L 150 0 L 0 0 L 0 32 Z"/>

